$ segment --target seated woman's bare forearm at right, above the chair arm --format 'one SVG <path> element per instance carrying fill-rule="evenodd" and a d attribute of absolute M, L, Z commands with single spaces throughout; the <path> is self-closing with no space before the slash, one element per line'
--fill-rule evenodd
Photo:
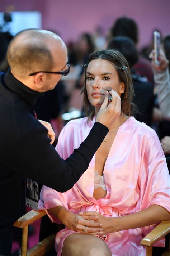
<path fill-rule="evenodd" d="M 110 222 L 113 223 L 113 232 L 117 232 L 121 230 L 149 226 L 163 220 L 169 220 L 169 218 L 170 214 L 167 210 L 165 210 L 165 208 L 159 205 L 151 205 L 145 210 L 136 212 L 134 214 L 111 218 Z"/>

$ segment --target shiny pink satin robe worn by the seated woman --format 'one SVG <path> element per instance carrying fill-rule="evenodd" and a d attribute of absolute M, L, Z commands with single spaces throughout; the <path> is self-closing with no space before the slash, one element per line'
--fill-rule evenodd
<path fill-rule="evenodd" d="M 95 120 L 88 124 L 86 121 L 87 118 L 72 120 L 61 131 L 56 150 L 62 158 L 69 157 L 89 134 Z M 123 123 L 117 132 L 104 167 L 107 195 L 98 200 L 93 198 L 94 165 L 95 156 L 79 181 L 65 193 L 43 186 L 39 208 L 62 205 L 76 214 L 97 211 L 106 217 L 132 214 L 154 204 L 170 210 L 169 173 L 160 141 L 154 130 L 134 117 Z M 60 223 L 47 213 L 52 222 Z M 146 248 L 140 241 L 154 226 L 109 233 L 103 239 L 114 256 L 142 256 L 146 254 Z M 55 248 L 58 256 L 61 256 L 65 238 L 72 233 L 75 231 L 68 228 L 57 233 Z M 156 245 L 163 247 L 164 239 Z"/>

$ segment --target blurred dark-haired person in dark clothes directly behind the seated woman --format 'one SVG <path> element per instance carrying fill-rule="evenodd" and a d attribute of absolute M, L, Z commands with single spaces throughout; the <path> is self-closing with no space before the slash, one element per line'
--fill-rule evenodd
<path fill-rule="evenodd" d="M 127 36 L 115 36 L 110 40 L 108 49 L 120 51 L 129 63 L 135 93 L 133 103 L 137 106 L 134 117 L 151 126 L 154 85 L 136 72 L 135 64 L 138 62 L 138 52 L 134 42 Z"/>

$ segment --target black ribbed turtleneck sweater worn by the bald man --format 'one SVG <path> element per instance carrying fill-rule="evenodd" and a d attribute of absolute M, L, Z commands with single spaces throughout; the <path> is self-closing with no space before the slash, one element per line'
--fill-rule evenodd
<path fill-rule="evenodd" d="M 69 190 L 88 168 L 109 131 L 95 122 L 80 147 L 63 160 L 50 144 L 47 129 L 30 114 L 42 95 L 18 81 L 10 69 L 7 74 L 0 72 L 0 226 L 4 220 L 16 218 L 22 176 L 59 192 Z"/>

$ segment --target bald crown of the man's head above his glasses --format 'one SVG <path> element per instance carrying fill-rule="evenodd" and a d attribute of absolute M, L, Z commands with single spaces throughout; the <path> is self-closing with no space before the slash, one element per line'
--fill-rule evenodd
<path fill-rule="evenodd" d="M 55 33 L 28 29 L 19 32 L 11 40 L 7 59 L 14 75 L 24 78 L 32 72 L 51 71 L 57 62 L 53 51 L 56 53 L 56 49 L 61 51 L 65 48 L 65 43 Z"/>

